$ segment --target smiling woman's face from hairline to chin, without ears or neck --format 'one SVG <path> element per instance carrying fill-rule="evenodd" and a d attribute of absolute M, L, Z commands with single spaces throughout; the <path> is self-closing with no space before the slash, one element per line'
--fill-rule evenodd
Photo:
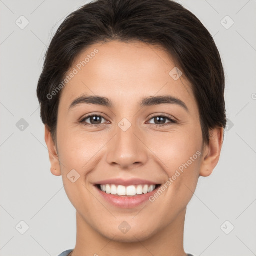
<path fill-rule="evenodd" d="M 67 72 L 52 173 L 84 228 L 134 241 L 183 219 L 205 155 L 191 85 L 175 66 L 159 47 L 110 41 Z"/>

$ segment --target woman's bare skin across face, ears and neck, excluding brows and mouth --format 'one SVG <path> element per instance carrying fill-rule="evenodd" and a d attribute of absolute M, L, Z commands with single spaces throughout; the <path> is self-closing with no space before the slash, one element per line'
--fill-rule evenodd
<path fill-rule="evenodd" d="M 176 65 L 160 47 L 138 41 L 94 44 L 77 57 L 70 70 L 95 48 L 99 50 L 95 57 L 62 89 L 56 143 L 45 126 L 51 172 L 62 175 L 66 194 L 76 209 L 77 237 L 72 256 L 184 256 L 186 206 L 199 176 L 210 175 L 219 160 L 223 128 L 211 130 L 209 144 L 203 144 L 191 84 L 184 74 L 177 80 L 169 75 Z M 84 94 L 104 96 L 113 107 L 81 103 L 69 110 L 71 102 Z M 159 95 L 177 97 L 188 111 L 177 104 L 139 106 L 142 97 Z M 90 113 L 102 115 L 103 125 L 79 123 Z M 156 126 L 153 116 L 157 114 L 177 122 L 164 119 Z M 131 124 L 125 132 L 118 126 L 123 118 Z M 90 124 L 90 119 L 86 122 Z M 101 198 L 92 185 L 115 177 L 164 184 L 197 151 L 200 157 L 154 202 L 118 208 Z M 74 183 L 67 178 L 72 169 L 80 175 Z M 122 221 L 131 226 L 126 234 L 118 229 Z"/>

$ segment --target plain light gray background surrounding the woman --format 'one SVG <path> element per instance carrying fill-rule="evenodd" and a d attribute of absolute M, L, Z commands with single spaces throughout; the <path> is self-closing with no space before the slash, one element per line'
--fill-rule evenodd
<path fill-rule="evenodd" d="M 75 209 L 61 176 L 50 172 L 36 85 L 57 27 L 86 2 L 0 0 L 1 256 L 54 256 L 75 246 Z M 197 256 L 256 255 L 256 1 L 178 2 L 214 36 L 229 119 L 220 161 L 211 176 L 199 178 L 188 204 L 185 250 Z M 21 15 L 29 21 L 23 29 Z M 29 226 L 24 234 L 20 221 Z"/>

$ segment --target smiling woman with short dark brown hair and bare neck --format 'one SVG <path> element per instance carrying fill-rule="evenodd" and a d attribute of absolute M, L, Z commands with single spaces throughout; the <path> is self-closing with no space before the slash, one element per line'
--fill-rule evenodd
<path fill-rule="evenodd" d="M 216 166 L 224 71 L 202 23 L 169 0 L 71 13 L 37 87 L 51 172 L 76 209 L 72 255 L 191 255 L 186 206 Z"/>

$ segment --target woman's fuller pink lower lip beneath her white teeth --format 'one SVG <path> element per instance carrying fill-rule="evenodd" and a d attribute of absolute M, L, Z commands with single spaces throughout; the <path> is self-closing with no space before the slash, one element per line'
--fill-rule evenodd
<path fill-rule="evenodd" d="M 149 201 L 149 197 L 152 196 L 158 188 L 146 194 L 139 194 L 135 196 L 118 196 L 113 194 L 107 194 L 101 191 L 97 186 L 95 186 L 99 194 L 112 205 L 119 208 L 135 208 L 142 203 Z"/>

